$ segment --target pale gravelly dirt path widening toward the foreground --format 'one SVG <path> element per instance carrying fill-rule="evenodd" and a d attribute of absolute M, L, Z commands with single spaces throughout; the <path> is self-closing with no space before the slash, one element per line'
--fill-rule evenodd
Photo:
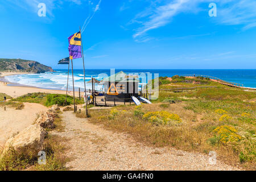
<path fill-rule="evenodd" d="M 130 135 L 113 133 L 102 126 L 76 118 L 72 111 L 62 114 L 63 133 L 71 149 L 67 155 L 71 170 L 236 170 L 217 161 L 209 164 L 209 156 L 156 148 L 135 142 Z"/>

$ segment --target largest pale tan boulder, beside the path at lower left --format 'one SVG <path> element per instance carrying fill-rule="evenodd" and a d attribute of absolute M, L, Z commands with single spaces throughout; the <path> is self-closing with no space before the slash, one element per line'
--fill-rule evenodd
<path fill-rule="evenodd" d="M 36 158 L 38 152 L 43 149 L 43 142 L 46 138 L 47 131 L 39 125 L 31 125 L 18 135 L 7 140 L 3 148 L 3 155 L 14 149 L 17 154 L 24 155 L 27 158 Z"/>

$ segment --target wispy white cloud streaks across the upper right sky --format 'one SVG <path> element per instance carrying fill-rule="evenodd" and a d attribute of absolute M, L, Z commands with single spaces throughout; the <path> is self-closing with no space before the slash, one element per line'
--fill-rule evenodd
<path fill-rule="evenodd" d="M 208 16 L 208 3 L 217 4 L 217 17 L 214 19 L 217 24 L 242 25 L 242 30 L 256 27 L 256 1 L 255 0 L 172 0 L 153 1 L 146 10 L 135 15 L 128 24 L 137 24 L 134 38 L 144 37 L 148 31 L 166 26 L 180 13 L 197 13 L 205 11 Z M 204 3 L 205 9 L 201 5 Z M 154 6 L 152 6 L 154 5 Z"/>

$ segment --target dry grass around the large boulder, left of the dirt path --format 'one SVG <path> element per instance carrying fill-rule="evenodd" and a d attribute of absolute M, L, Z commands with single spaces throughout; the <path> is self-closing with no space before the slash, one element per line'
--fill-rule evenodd
<path fill-rule="evenodd" d="M 55 131 L 63 132 L 65 126 L 61 121 L 61 117 L 57 115 L 54 121 Z M 48 130 L 52 131 L 52 130 Z M 37 158 L 31 158 L 24 155 L 19 155 L 12 148 L 7 154 L 0 159 L 0 171 L 16 171 L 16 170 L 32 170 L 32 171 L 61 171 L 67 170 L 65 164 L 69 161 L 65 155 L 68 150 L 63 143 L 67 142 L 66 138 L 57 135 L 48 135 L 44 140 L 43 151 L 46 152 L 46 164 L 40 165 L 37 163 Z M 2 151 L 0 151 L 2 154 Z"/>

